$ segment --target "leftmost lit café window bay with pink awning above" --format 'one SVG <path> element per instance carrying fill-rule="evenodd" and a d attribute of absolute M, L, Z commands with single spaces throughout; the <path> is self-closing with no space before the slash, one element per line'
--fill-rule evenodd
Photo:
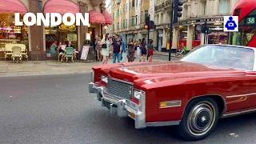
<path fill-rule="evenodd" d="M 14 13 L 20 13 L 20 20 L 26 14 L 26 7 L 18 0 L 0 2 L 0 58 L 5 58 L 6 44 L 24 44 L 29 48 L 28 27 L 14 26 Z M 8 57 L 10 58 L 10 57 Z"/>

